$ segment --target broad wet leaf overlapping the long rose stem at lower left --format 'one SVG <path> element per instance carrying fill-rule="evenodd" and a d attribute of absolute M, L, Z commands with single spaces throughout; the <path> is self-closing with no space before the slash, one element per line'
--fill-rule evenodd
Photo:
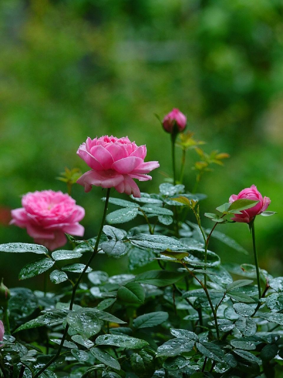
<path fill-rule="evenodd" d="M 96 335 L 103 325 L 103 322 L 92 311 L 85 308 L 77 312 L 71 311 L 67 316 L 67 323 L 76 332 L 88 335 L 88 337 Z"/>

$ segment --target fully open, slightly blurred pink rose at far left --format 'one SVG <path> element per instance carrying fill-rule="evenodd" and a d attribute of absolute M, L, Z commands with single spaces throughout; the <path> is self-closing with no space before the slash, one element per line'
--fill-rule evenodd
<path fill-rule="evenodd" d="M 11 211 L 10 224 L 26 228 L 35 243 L 51 251 L 66 244 L 64 232 L 77 236 L 85 232 L 78 223 L 85 216 L 85 209 L 68 194 L 52 190 L 28 193 L 22 198 L 22 206 Z"/>

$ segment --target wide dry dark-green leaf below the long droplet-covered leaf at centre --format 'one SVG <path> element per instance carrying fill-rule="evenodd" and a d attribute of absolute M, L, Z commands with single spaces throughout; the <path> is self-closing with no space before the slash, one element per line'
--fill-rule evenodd
<path fill-rule="evenodd" d="M 147 283 L 157 287 L 172 285 L 185 276 L 185 273 L 172 272 L 165 270 L 149 270 L 144 273 L 137 274 L 136 282 Z"/>

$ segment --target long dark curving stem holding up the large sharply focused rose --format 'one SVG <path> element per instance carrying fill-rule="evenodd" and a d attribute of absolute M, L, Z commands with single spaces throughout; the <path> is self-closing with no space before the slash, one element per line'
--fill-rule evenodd
<path fill-rule="evenodd" d="M 98 244 L 99 244 L 99 241 L 100 241 L 100 237 L 101 237 L 101 234 L 102 234 L 102 229 L 103 229 L 105 218 L 106 218 L 108 201 L 109 201 L 109 197 L 110 197 L 110 190 L 111 190 L 111 188 L 107 189 L 105 206 L 104 206 L 104 212 L 103 212 L 103 216 L 102 216 L 102 221 L 101 221 L 100 229 L 98 231 L 98 235 L 97 235 L 97 239 L 96 239 L 96 242 L 95 242 L 95 246 L 93 248 L 92 255 L 89 258 L 88 263 L 86 264 L 84 270 L 82 271 L 82 273 L 78 277 L 77 282 L 73 285 L 72 297 L 71 297 L 71 302 L 70 302 L 69 310 L 73 309 L 73 304 L 74 304 L 74 300 L 75 300 L 75 294 L 76 294 L 77 287 L 78 287 L 80 281 L 82 280 L 83 275 L 86 273 L 86 270 L 88 269 L 89 265 L 91 264 L 94 256 L 98 252 Z M 50 359 L 50 361 L 47 364 L 45 364 L 40 370 L 38 370 L 38 372 L 33 376 L 33 378 L 39 377 L 40 374 L 42 372 L 44 372 L 44 370 L 47 369 L 48 366 L 50 366 L 60 356 L 60 352 L 61 352 L 61 350 L 63 348 L 64 341 L 66 340 L 66 337 L 67 337 L 67 334 L 68 334 L 68 329 L 69 329 L 69 324 L 66 324 L 66 327 L 65 327 L 65 330 L 64 330 L 64 333 L 63 333 L 63 337 L 62 337 L 62 340 L 61 340 L 61 344 L 59 345 L 57 353 Z"/>

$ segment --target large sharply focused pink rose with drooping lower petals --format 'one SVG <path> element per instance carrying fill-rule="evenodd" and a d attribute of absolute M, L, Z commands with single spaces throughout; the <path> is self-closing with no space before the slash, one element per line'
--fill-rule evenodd
<path fill-rule="evenodd" d="M 146 146 L 137 146 L 128 136 L 88 138 L 86 143 L 80 145 L 77 154 L 91 167 L 77 180 L 78 184 L 85 187 L 85 192 L 89 192 L 92 185 L 95 185 L 115 187 L 119 193 L 140 197 L 140 189 L 133 178 L 151 180 L 151 176 L 146 173 L 159 167 L 158 161 L 145 163 Z"/>

